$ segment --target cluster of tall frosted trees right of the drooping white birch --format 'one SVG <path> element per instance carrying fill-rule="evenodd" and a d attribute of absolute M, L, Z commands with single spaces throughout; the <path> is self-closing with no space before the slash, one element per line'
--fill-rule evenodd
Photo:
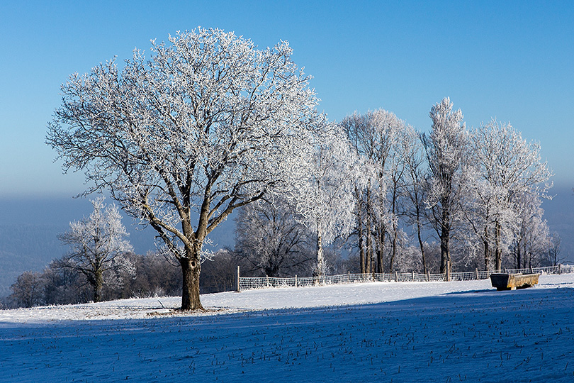
<path fill-rule="evenodd" d="M 448 98 L 429 116 L 429 133 L 417 133 L 383 110 L 342 122 L 355 150 L 375 169 L 356 199 L 359 252 L 366 253 L 361 270 L 369 269 L 375 253 L 376 270 L 392 271 L 406 228 L 415 233 L 425 272 L 426 228 L 440 243 L 440 272 L 447 262 L 477 263 L 478 254 L 485 269 L 500 270 L 505 256 L 508 266 L 531 265 L 541 252 L 536 247 L 548 243 L 540 205 L 549 198 L 551 171 L 539 145 L 507 123 L 469 131 Z"/>

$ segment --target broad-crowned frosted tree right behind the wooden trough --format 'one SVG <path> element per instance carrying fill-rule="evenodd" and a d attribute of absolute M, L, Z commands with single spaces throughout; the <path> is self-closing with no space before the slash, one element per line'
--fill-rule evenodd
<path fill-rule="evenodd" d="M 540 145 L 528 143 L 510 123 L 490 121 L 475 129 L 471 138 L 476 167 L 474 225 L 483 242 L 485 265 L 492 248 L 495 270 L 500 270 L 519 210 L 525 208 L 523 196 L 545 197 L 552 172 L 541 160 Z"/>

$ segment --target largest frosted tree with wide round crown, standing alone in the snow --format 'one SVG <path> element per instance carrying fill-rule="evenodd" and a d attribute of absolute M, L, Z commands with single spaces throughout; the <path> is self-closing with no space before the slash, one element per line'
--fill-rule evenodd
<path fill-rule="evenodd" d="M 259 50 L 219 29 L 152 41 L 73 74 L 48 126 L 64 170 L 157 231 L 181 265 L 181 309 L 202 309 L 203 243 L 236 208 L 298 177 L 294 154 L 322 116 L 288 43 Z M 296 157 L 303 158 L 303 157 Z"/>

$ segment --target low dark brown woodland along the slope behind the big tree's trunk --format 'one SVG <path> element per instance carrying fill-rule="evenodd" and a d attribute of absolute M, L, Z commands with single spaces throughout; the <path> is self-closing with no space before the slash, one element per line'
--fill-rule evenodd
<path fill-rule="evenodd" d="M 305 262 L 299 265 L 283 264 L 278 275 L 308 275 L 314 267 L 313 250 L 308 251 Z M 106 273 L 99 292 L 102 301 L 128 298 L 150 298 L 179 296 L 181 276 L 179 267 L 164 255 L 148 252 L 137 255 L 127 252 L 124 262 L 132 265 L 134 272 Z M 356 259 L 343 259 L 327 250 L 325 257 L 335 272 L 358 272 Z M 0 309 L 17 307 L 47 306 L 55 304 L 79 304 L 94 301 L 94 288 L 85 274 L 67 267 L 67 256 L 53 260 L 41 272 L 23 272 L 11 286 L 11 294 L 0 299 Z M 211 260 L 203 262 L 201 272 L 201 294 L 235 290 L 237 266 L 242 276 L 260 277 L 265 270 L 255 266 L 243 254 L 230 250 L 218 250 Z M 294 267 L 293 267 L 294 266 Z"/>

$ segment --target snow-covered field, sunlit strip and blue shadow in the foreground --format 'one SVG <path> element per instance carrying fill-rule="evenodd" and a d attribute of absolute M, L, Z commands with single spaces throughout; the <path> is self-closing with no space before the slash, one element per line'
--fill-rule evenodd
<path fill-rule="evenodd" d="M 574 274 L 0 311 L 0 382 L 574 382 Z M 152 313 L 149 315 L 148 313 Z"/>

